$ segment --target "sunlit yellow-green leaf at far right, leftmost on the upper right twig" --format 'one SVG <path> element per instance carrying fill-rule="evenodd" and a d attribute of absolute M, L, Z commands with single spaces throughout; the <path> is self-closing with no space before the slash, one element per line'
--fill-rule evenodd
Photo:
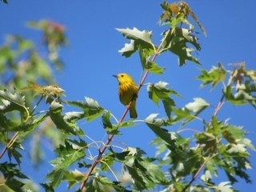
<path fill-rule="evenodd" d="M 220 82 L 225 82 L 226 80 L 226 69 L 221 63 L 218 66 L 213 66 L 211 70 L 201 70 L 202 74 L 198 76 L 198 80 L 202 81 L 202 87 L 211 84 L 214 89 Z"/>

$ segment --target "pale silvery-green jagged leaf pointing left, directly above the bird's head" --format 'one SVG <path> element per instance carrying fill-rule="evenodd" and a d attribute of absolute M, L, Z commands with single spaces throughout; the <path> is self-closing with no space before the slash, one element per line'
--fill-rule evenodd
<path fill-rule="evenodd" d="M 130 39 L 130 44 L 126 44 L 119 52 L 122 56 L 130 57 L 139 49 L 154 50 L 154 44 L 151 42 L 151 31 L 134 29 L 117 29 L 125 38 Z"/>

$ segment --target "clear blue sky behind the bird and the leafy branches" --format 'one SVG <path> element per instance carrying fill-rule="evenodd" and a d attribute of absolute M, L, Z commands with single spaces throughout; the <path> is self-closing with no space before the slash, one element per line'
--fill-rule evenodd
<path fill-rule="evenodd" d="M 163 30 L 158 25 L 158 18 L 162 13 L 161 2 L 156 0 L 10 0 L 9 5 L 0 4 L 0 42 L 3 42 L 6 34 L 22 34 L 26 38 L 39 41 L 38 32 L 25 27 L 26 22 L 31 20 L 49 19 L 62 23 L 66 26 L 70 45 L 61 50 L 61 58 L 66 66 L 63 72 L 56 74 L 56 77 L 59 86 L 66 90 L 66 99 L 77 101 L 85 96 L 94 98 L 100 105 L 120 118 L 125 107 L 118 101 L 118 82 L 112 74 L 126 72 L 138 82 L 142 68 L 138 55 L 127 59 L 118 53 L 127 41 L 115 28 L 135 26 L 139 30 L 152 30 L 154 42 L 158 44 Z M 198 52 L 196 57 L 202 62 L 202 68 L 208 70 L 218 62 L 222 62 L 228 68 L 230 63 L 245 61 L 248 69 L 255 70 L 256 2 L 254 0 L 187 2 L 207 31 L 207 38 L 203 34 L 198 34 L 202 51 Z M 186 66 L 179 67 L 178 58 L 170 54 L 163 55 L 157 62 L 160 66 L 166 67 L 166 74 L 150 75 L 147 82 L 160 80 L 169 82 L 172 89 L 183 95 L 183 98 L 177 99 L 178 106 L 181 107 L 192 102 L 193 98 L 204 98 L 212 104 L 204 115 L 206 120 L 209 120 L 210 114 L 218 104 L 218 99 L 221 98 L 221 90 L 199 89 L 201 82 L 195 80 L 199 70 L 194 63 L 188 62 Z M 162 106 L 155 106 L 147 98 L 146 87 L 144 87 L 138 98 L 138 118 L 144 119 L 153 113 L 159 113 L 160 117 L 165 115 Z M 256 118 L 253 107 L 234 107 L 226 103 L 219 117 L 222 120 L 230 118 L 230 124 L 244 126 L 250 132 L 248 138 L 254 142 L 254 145 L 256 144 Z M 99 122 L 82 123 L 82 128 L 91 138 L 102 139 L 104 136 Z M 190 128 L 202 130 L 202 127 Z M 171 129 L 177 129 L 177 127 Z M 154 148 L 148 146 L 154 134 L 145 125 L 123 130 L 122 134 L 116 139 L 133 147 L 140 146 L 148 154 L 154 155 Z M 252 152 L 251 162 L 255 167 L 254 152 Z M 30 166 L 29 160 L 22 168 L 28 170 L 27 174 L 30 177 L 43 182 L 41 173 L 42 170 L 46 170 L 46 167 L 37 172 L 26 166 Z M 49 172 L 50 166 L 47 166 L 47 169 Z M 250 170 L 249 173 L 254 183 L 250 185 L 239 182 L 236 185 L 238 190 L 255 189 L 255 170 Z"/>

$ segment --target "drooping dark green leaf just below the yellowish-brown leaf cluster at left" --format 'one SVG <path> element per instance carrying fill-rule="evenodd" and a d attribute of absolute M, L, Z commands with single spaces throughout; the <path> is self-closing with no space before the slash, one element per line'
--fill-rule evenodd
<path fill-rule="evenodd" d="M 50 105 L 49 115 L 55 126 L 59 130 L 63 130 L 66 134 L 83 136 L 83 131 L 77 126 L 74 121 L 74 114 L 62 115 L 62 104 L 52 102 Z M 77 116 L 76 116 L 77 118 Z"/>

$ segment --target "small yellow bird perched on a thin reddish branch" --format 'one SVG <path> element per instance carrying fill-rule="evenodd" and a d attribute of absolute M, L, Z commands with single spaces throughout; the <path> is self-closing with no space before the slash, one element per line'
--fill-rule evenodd
<path fill-rule="evenodd" d="M 136 98 L 138 97 L 138 86 L 134 82 L 134 79 L 129 74 L 113 75 L 118 78 L 119 82 L 119 99 L 123 105 L 127 106 L 131 101 L 133 103 L 130 106 L 130 118 L 137 118 L 136 112 Z"/>

